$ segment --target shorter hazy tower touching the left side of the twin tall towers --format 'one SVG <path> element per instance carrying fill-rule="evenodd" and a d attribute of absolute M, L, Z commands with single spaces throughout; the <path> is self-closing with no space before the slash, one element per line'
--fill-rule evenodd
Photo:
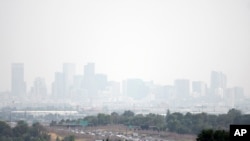
<path fill-rule="evenodd" d="M 63 84 L 63 73 L 56 72 L 55 78 L 52 86 L 52 93 L 54 98 L 62 99 L 64 97 L 64 84 Z"/>

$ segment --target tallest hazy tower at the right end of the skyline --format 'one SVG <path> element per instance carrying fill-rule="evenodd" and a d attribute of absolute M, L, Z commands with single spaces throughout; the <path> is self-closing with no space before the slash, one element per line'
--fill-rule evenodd
<path fill-rule="evenodd" d="M 227 77 L 222 72 L 211 72 L 211 93 L 214 96 L 223 97 L 227 86 Z"/>

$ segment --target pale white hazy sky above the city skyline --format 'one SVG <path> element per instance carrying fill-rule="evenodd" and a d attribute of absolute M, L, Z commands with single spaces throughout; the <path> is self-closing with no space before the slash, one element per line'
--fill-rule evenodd
<path fill-rule="evenodd" d="M 109 80 L 158 84 L 224 72 L 250 92 L 249 0 L 0 0 L 0 91 L 11 63 L 25 64 L 28 87 L 51 85 L 63 62 L 96 63 Z"/>

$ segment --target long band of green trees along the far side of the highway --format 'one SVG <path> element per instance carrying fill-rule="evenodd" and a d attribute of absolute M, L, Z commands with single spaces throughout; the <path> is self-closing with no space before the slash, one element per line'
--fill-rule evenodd
<path fill-rule="evenodd" d="M 79 120 L 61 120 L 59 123 L 53 121 L 53 125 L 64 123 L 79 123 L 87 121 L 91 126 L 124 124 L 127 126 L 137 126 L 141 129 L 155 129 L 181 134 L 198 134 L 203 129 L 229 130 L 230 124 L 249 124 L 250 115 L 244 115 L 239 110 L 231 109 L 227 114 L 211 115 L 207 113 L 170 113 L 166 116 L 158 114 L 134 114 L 132 111 L 125 111 L 122 114 L 113 112 L 111 114 L 99 113 L 97 116 L 87 116 Z"/>

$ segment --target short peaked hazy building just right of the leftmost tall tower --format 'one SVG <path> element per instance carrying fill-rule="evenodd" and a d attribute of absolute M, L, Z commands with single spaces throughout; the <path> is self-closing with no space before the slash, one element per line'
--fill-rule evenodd
<path fill-rule="evenodd" d="M 36 78 L 33 82 L 33 86 L 31 88 L 31 94 L 35 97 L 45 97 L 47 96 L 47 88 L 45 84 L 44 78 Z"/>

